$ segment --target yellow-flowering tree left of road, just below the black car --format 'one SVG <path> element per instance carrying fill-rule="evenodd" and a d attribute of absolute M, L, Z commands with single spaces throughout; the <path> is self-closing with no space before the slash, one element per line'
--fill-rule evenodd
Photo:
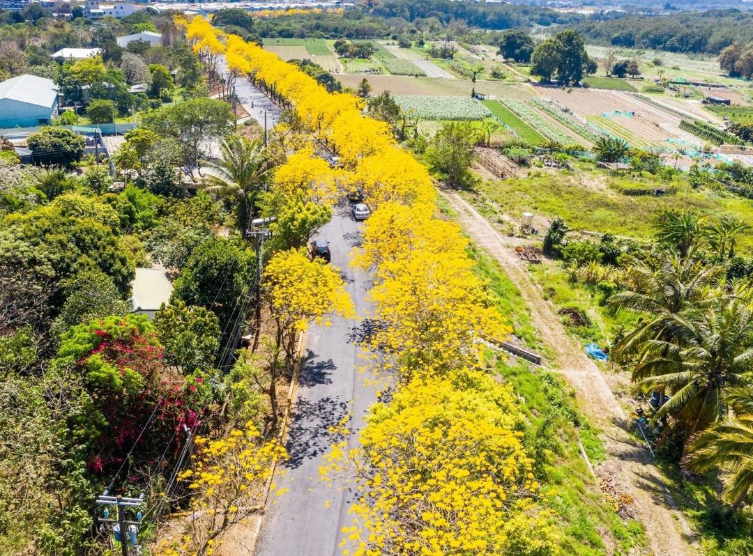
<path fill-rule="evenodd" d="M 312 321 L 328 324 L 339 314 L 355 316 L 355 309 L 337 269 L 316 257 L 310 260 L 304 249 L 276 253 L 264 269 L 264 292 L 270 314 L 276 324 L 273 360 L 280 351 L 286 368 L 294 362 L 297 334 Z M 270 366 L 270 406 L 273 423 L 277 420 L 276 379 L 278 365 Z"/>

